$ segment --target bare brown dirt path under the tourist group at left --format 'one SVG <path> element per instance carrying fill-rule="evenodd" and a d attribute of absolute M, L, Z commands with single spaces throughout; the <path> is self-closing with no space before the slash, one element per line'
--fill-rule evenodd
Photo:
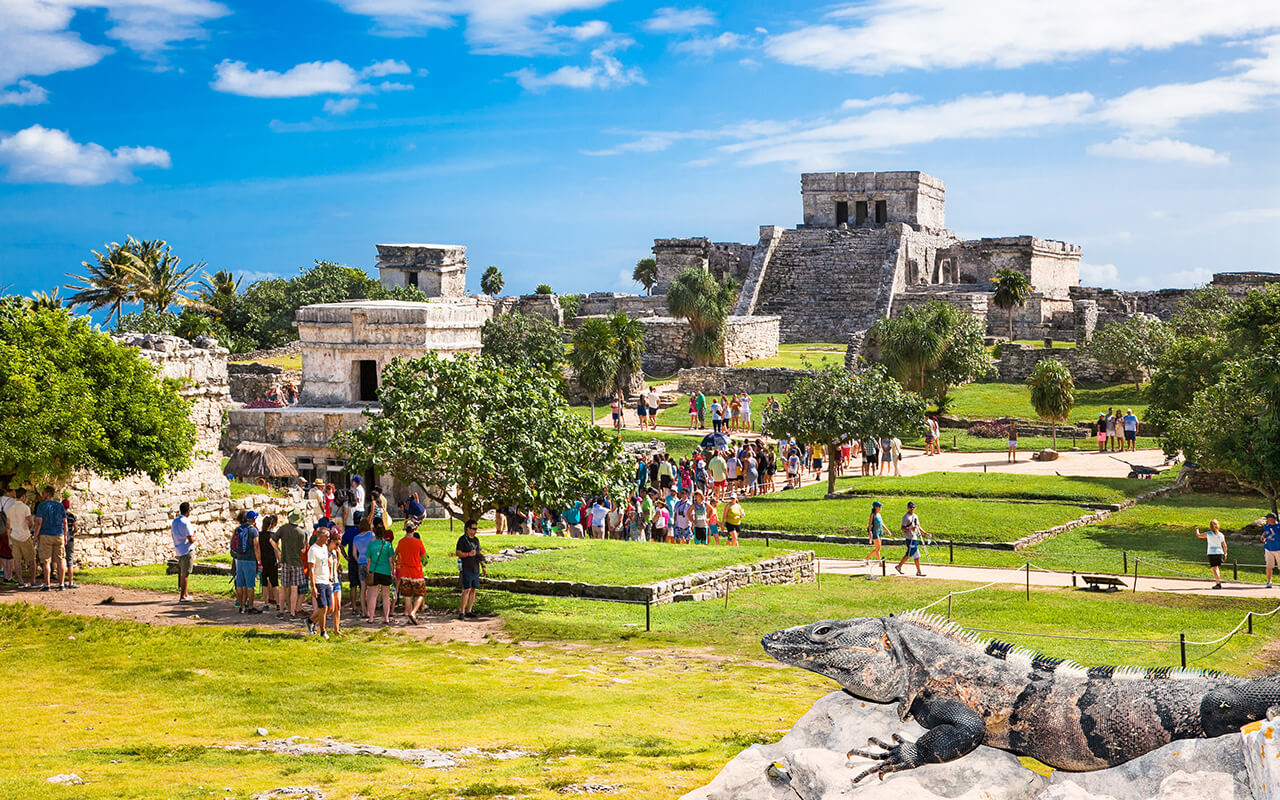
<path fill-rule="evenodd" d="M 306 634 L 306 623 L 301 620 L 278 620 L 275 612 L 252 616 L 239 614 L 236 612 L 234 602 L 227 598 L 197 598 L 193 603 L 179 603 L 175 594 L 101 584 L 82 584 L 79 589 L 64 591 L 18 590 L 13 586 L 4 586 L 0 588 L 0 603 L 29 603 L 68 614 L 129 620 L 146 625 L 227 625 Z M 307 612 L 311 611 L 310 607 L 305 608 Z M 383 630 L 381 622 L 371 625 L 356 620 L 348 613 L 349 608 L 349 605 L 344 605 L 342 609 L 344 631 Z M 401 614 L 392 617 L 389 628 L 422 641 L 479 644 L 489 640 L 506 640 L 502 620 L 498 617 L 463 621 L 458 620 L 457 614 L 438 614 L 424 611 L 419 614 L 419 625 L 408 625 L 404 616 Z"/>

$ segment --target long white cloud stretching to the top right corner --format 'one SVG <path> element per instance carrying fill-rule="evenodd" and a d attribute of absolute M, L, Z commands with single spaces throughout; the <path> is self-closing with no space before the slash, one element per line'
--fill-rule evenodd
<path fill-rule="evenodd" d="M 1014 68 L 1098 52 L 1166 50 L 1280 26 L 1275 0 L 870 0 L 765 45 L 774 59 L 818 69 Z"/>

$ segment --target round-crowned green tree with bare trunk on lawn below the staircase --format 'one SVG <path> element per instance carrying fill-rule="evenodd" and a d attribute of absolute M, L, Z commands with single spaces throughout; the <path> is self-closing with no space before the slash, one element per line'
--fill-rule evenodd
<path fill-rule="evenodd" d="M 813 370 L 791 385 L 782 407 L 769 416 L 769 433 L 780 439 L 827 449 L 827 493 L 836 490 L 840 443 L 860 436 L 924 434 L 924 399 L 906 392 L 884 367 L 856 375 L 840 365 Z"/>

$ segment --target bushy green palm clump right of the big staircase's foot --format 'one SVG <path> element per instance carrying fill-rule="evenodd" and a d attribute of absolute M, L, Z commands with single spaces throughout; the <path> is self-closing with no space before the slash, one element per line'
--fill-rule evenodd
<path fill-rule="evenodd" d="M 929 301 L 872 326 L 879 361 L 911 392 L 945 412 L 955 387 L 992 374 L 982 321 L 950 303 Z"/>

